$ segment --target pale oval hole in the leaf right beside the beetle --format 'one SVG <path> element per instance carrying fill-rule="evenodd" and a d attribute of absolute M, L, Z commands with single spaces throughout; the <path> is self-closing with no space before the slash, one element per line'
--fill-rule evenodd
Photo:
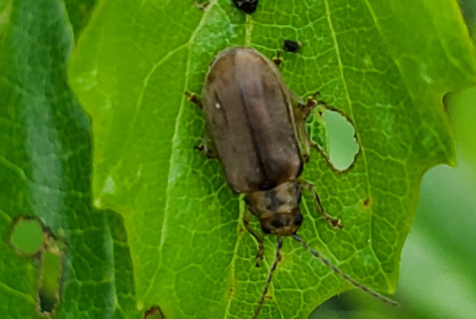
<path fill-rule="evenodd" d="M 325 109 L 322 114 L 328 141 L 328 152 L 324 149 L 324 153 L 334 168 L 346 170 L 354 162 L 359 150 L 354 125 L 337 111 Z"/>

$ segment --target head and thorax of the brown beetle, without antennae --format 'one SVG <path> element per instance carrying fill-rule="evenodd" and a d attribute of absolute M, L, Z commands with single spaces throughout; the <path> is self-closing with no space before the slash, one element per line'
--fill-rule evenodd
<path fill-rule="evenodd" d="M 290 236 L 303 221 L 299 210 L 301 184 L 297 181 L 291 180 L 270 190 L 249 193 L 245 201 L 266 233 Z"/>

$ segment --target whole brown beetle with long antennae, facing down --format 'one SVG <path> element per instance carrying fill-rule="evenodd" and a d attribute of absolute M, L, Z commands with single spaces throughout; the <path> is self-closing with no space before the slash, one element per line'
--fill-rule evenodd
<path fill-rule="evenodd" d="M 298 107 L 293 106 L 293 100 Z M 207 145 L 210 137 L 228 184 L 236 193 L 244 194 L 247 210 L 243 225 L 258 242 L 256 266 L 263 259 L 264 238 L 250 226 L 253 215 L 259 219 L 264 233 L 278 237 L 275 259 L 253 318 L 259 314 L 280 259 L 283 236 L 292 236 L 348 282 L 396 304 L 359 284 L 297 235 L 303 222 L 299 209 L 303 187 L 313 194 L 319 213 L 332 226 L 341 228 L 339 218 L 324 212 L 312 184 L 299 178 L 310 145 L 304 124 L 316 105 L 312 99 L 305 104 L 293 98 L 277 67 L 252 48 L 225 49 L 212 61 L 205 77 L 202 149 L 210 154 Z"/>

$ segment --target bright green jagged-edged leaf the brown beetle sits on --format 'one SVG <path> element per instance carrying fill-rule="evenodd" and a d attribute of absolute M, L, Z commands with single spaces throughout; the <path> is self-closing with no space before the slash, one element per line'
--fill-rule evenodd
<path fill-rule="evenodd" d="M 475 50 L 452 0 L 260 1 L 247 16 L 231 1 L 102 0 L 73 53 L 69 80 L 93 119 L 97 207 L 124 218 L 137 309 L 170 318 L 249 318 L 272 262 L 254 266 L 244 205 L 217 160 L 194 151 L 207 66 L 230 45 L 282 53 L 289 87 L 315 91 L 352 122 L 360 152 L 336 172 L 318 151 L 303 177 L 334 230 L 304 195 L 309 245 L 363 284 L 394 291 L 423 173 L 454 164 L 443 95 L 476 80 Z M 367 204 L 368 203 L 368 204 Z M 306 318 L 350 284 L 290 239 L 259 318 Z"/>

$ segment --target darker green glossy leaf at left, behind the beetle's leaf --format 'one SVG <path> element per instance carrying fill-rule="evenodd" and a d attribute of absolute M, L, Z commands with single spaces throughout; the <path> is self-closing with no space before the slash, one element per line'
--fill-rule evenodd
<path fill-rule="evenodd" d="M 60 0 L 0 8 L 1 317 L 44 318 L 40 253 L 20 255 L 10 244 L 15 220 L 36 217 L 66 244 L 54 317 L 124 318 L 121 308 L 133 313 L 132 264 L 119 215 L 92 208 L 90 120 L 66 79 L 67 11 Z"/>

